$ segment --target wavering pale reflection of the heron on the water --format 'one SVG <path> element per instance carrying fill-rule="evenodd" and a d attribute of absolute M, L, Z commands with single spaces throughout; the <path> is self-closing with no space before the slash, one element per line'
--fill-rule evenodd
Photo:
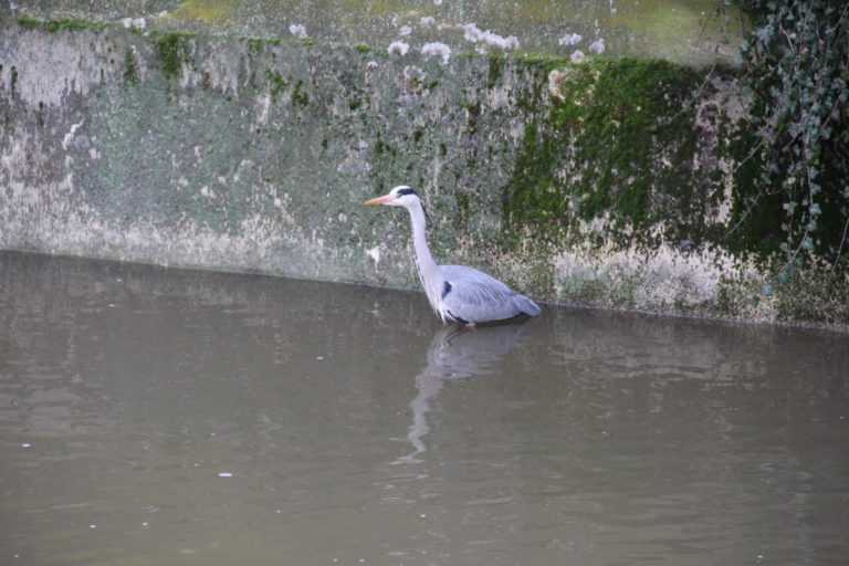
<path fill-rule="evenodd" d="M 416 376 L 419 392 L 410 401 L 412 424 L 407 440 L 413 450 L 394 464 L 422 461 L 419 455 L 428 449 L 423 438 L 430 430 L 427 420 L 430 400 L 442 389 L 443 381 L 490 374 L 492 366 L 515 346 L 534 322 L 535 318 L 523 318 L 474 329 L 446 327 L 433 335 L 428 348 L 428 365 Z"/>

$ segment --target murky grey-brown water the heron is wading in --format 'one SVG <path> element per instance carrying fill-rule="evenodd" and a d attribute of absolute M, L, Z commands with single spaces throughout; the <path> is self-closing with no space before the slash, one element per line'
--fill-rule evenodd
<path fill-rule="evenodd" d="M 846 564 L 849 337 L 0 253 L 0 564 Z"/>

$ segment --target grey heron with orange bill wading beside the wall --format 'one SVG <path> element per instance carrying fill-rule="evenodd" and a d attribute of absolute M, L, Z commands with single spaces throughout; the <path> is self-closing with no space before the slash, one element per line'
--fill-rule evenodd
<path fill-rule="evenodd" d="M 504 321 L 521 314 L 537 316 L 539 307 L 495 277 L 467 265 L 437 265 L 424 237 L 424 208 L 419 196 L 407 185 L 399 185 L 366 206 L 403 207 L 412 223 L 412 255 L 428 302 L 442 319 L 461 326 Z"/>

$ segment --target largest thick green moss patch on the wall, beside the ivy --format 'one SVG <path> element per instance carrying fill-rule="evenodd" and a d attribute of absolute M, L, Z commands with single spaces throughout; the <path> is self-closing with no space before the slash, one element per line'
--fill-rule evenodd
<path fill-rule="evenodd" d="M 635 59 L 525 64 L 547 73 L 552 104 L 525 126 L 504 186 L 505 226 L 533 226 L 534 237 L 555 243 L 602 217 L 622 247 L 710 237 L 702 220 L 719 184 L 692 190 L 694 71 Z M 525 104 L 543 107 L 542 97 Z M 650 231 L 659 223 L 662 233 Z"/>

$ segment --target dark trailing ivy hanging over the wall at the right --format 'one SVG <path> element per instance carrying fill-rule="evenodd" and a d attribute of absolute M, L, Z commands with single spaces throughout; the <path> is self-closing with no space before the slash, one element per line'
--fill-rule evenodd
<path fill-rule="evenodd" d="M 782 201 L 778 281 L 814 259 L 849 261 L 849 0 L 742 0 L 753 21 L 740 46 L 763 200 Z M 777 219 L 776 219 L 777 220 Z"/>

